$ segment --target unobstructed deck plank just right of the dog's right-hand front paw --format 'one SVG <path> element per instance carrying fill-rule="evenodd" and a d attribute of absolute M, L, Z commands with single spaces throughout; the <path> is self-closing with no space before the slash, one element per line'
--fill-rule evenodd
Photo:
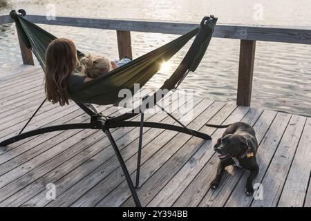
<path fill-rule="evenodd" d="M 290 170 L 294 153 L 298 146 L 306 117 L 293 115 L 282 137 L 272 162 L 265 173 L 263 200 L 253 200 L 252 206 L 276 206 L 282 193 L 286 176 Z"/>

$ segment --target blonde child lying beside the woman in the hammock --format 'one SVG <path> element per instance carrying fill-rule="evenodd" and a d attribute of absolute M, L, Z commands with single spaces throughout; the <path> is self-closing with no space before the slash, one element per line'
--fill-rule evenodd
<path fill-rule="evenodd" d="M 121 60 L 109 61 L 109 59 L 104 56 L 86 55 L 85 57 L 82 57 L 80 61 L 84 66 L 82 73 L 84 73 L 86 77 L 95 78 L 109 73 L 109 71 L 120 67 L 131 60 L 124 58 Z"/>

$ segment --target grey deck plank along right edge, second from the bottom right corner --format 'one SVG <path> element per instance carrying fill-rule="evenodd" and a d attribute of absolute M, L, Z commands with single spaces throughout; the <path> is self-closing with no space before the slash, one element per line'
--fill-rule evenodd
<path fill-rule="evenodd" d="M 298 135 L 298 134 L 297 134 Z M 278 206 L 302 207 L 311 171 L 311 118 L 308 117 Z M 310 207 L 310 205 L 305 205 Z"/>

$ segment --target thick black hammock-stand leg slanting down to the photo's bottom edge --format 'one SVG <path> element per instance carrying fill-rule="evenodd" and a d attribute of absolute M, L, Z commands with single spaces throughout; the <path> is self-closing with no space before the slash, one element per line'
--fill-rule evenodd
<path fill-rule="evenodd" d="M 126 182 L 129 185 L 129 189 L 130 189 L 131 194 L 133 196 L 133 200 L 135 202 L 135 205 L 137 207 L 141 207 L 142 205 L 140 204 L 140 199 L 138 198 L 138 195 L 135 191 L 135 187 L 134 187 L 133 182 L 131 180 L 131 175 L 129 174 L 129 171 L 126 168 L 126 165 L 124 163 L 122 155 L 121 155 L 119 149 L 117 148 L 117 144 L 115 144 L 115 140 L 113 140 L 113 137 L 112 137 L 111 133 L 109 132 L 108 128 L 104 128 L 103 131 L 104 131 L 104 133 L 106 133 L 106 135 L 107 135 L 107 137 L 111 143 L 111 146 L 113 146 L 113 150 L 115 151 L 115 155 L 117 155 L 117 160 L 119 160 L 119 162 L 120 162 L 120 166 L 121 166 L 122 171 L 124 173 L 124 176 L 126 178 Z"/>

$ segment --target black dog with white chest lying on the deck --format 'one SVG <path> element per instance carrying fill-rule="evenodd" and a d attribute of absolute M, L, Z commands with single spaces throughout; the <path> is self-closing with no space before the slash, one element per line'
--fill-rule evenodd
<path fill-rule="evenodd" d="M 217 189 L 225 167 L 229 165 L 239 166 L 250 171 L 247 177 L 245 194 L 253 195 L 253 180 L 258 175 L 259 166 L 256 162 L 258 142 L 254 128 L 243 122 L 228 125 L 206 124 L 215 128 L 226 128 L 223 135 L 217 140 L 214 151 L 218 153 L 220 162 L 218 164 L 215 179 L 210 188 Z"/>

